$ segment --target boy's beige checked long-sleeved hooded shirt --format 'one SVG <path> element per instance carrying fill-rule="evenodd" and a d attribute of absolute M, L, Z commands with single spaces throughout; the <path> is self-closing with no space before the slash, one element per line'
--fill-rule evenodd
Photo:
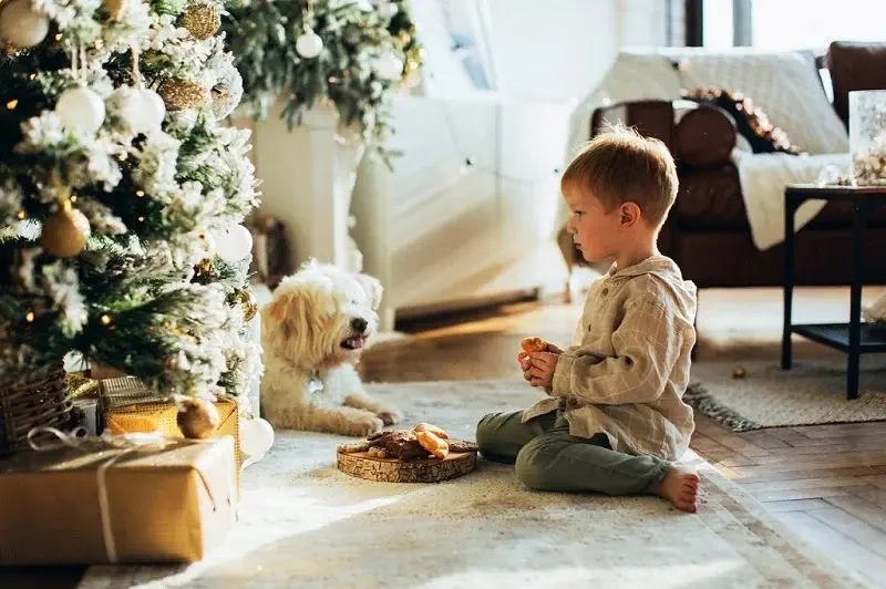
<path fill-rule="evenodd" d="M 550 396 L 526 410 L 523 421 L 562 411 L 571 435 L 605 433 L 615 451 L 679 459 L 694 428 L 682 396 L 696 307 L 696 285 L 666 256 L 624 270 L 612 266 L 588 290 Z"/>

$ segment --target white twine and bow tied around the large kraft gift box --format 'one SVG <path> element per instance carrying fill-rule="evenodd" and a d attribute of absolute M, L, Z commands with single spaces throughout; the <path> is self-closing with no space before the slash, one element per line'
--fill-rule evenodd
<path fill-rule="evenodd" d="M 41 442 L 39 440 L 41 436 L 49 437 L 49 440 Z M 31 450 L 34 452 L 52 452 L 65 447 L 82 451 L 90 450 L 91 447 L 123 451 L 100 464 L 95 475 L 96 486 L 99 488 L 99 513 L 102 520 L 102 539 L 104 540 L 107 561 L 111 564 L 117 562 L 117 549 L 116 542 L 114 541 L 113 528 L 111 527 L 111 509 L 109 507 L 110 502 L 107 496 L 107 469 L 117 461 L 133 452 L 158 451 L 169 445 L 204 444 L 207 442 L 209 441 L 166 437 L 159 432 L 122 435 L 113 435 L 105 432 L 99 436 L 89 436 L 86 435 L 85 427 L 75 427 L 70 432 L 63 432 L 55 427 L 34 427 L 28 432 L 28 445 L 30 445 Z M 200 478 L 203 478 L 203 473 L 200 473 Z M 233 485 L 233 478 L 229 479 L 229 483 Z M 212 488 L 205 478 L 203 478 L 203 484 L 215 508 L 216 502 L 213 497 Z M 233 496 L 233 487 L 227 489 L 227 496 Z"/>

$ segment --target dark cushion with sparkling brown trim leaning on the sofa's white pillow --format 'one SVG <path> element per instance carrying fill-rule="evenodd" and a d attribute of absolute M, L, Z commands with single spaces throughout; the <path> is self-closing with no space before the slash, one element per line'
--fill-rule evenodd
<path fill-rule="evenodd" d="M 773 125 L 766 113 L 754 106 L 749 96 L 715 87 L 700 87 L 683 93 L 683 97 L 699 103 L 713 104 L 728 112 L 735 121 L 738 132 L 748 140 L 755 154 L 781 152 L 800 155 L 803 152 L 791 143 L 783 128 Z"/>

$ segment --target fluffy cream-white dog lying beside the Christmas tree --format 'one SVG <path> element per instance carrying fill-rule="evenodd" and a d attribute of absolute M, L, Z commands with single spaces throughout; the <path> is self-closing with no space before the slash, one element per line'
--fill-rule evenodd
<path fill-rule="evenodd" d="M 400 418 L 354 369 L 378 330 L 381 283 L 310 261 L 261 310 L 261 410 L 275 426 L 367 436 Z"/>

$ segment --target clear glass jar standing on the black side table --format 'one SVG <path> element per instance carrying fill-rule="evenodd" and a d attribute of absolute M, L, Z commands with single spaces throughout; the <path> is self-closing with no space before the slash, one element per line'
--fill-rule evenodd
<path fill-rule="evenodd" d="M 849 92 L 853 186 L 886 186 L 886 90 Z"/>

